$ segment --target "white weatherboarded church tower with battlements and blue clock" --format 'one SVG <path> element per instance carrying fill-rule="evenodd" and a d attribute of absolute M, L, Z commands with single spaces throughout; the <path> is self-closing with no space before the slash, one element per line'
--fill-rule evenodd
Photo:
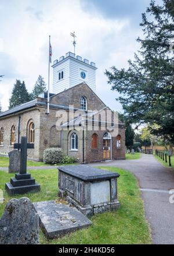
<path fill-rule="evenodd" d="M 96 91 L 96 65 L 94 62 L 67 52 L 53 62 L 53 93 L 57 94 L 79 83 L 85 82 Z"/>

